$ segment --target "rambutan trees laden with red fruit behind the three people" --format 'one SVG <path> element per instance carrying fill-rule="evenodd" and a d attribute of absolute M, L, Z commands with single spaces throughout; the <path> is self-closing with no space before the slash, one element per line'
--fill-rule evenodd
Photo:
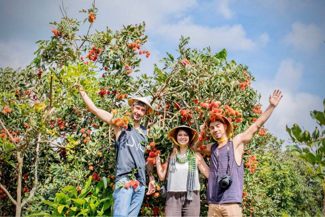
<path fill-rule="evenodd" d="M 1 215 L 111 215 L 114 133 L 85 107 L 76 85 L 124 128 L 133 126 L 127 99 L 149 99 L 154 115 L 146 116 L 142 125 L 149 132 L 146 158 L 153 163 L 159 152 L 166 159 L 172 147 L 167 132 L 175 126 L 199 131 L 205 119 L 223 114 L 237 134 L 262 113 L 260 96 L 250 87 L 253 75 L 247 66 L 227 61 L 225 49 L 191 49 L 186 47 L 189 38 L 182 36 L 178 56 L 167 53 L 148 76 L 138 73 L 141 57 L 150 58 L 145 23 L 90 33 L 98 17 L 94 4 L 81 11 L 83 22 L 69 18 L 64 7 L 61 12 L 60 22 L 50 23 L 51 39 L 37 42 L 30 66 L 0 69 Z M 79 26 L 85 24 L 89 28 L 82 34 Z M 256 176 L 261 161 L 255 146 L 270 137 L 261 129 L 243 153 L 245 215 L 279 213 L 267 212 L 270 199 L 262 197 L 267 192 L 256 188 L 262 176 Z M 211 137 L 200 133 L 200 140 L 210 142 Z M 209 161 L 209 156 L 204 158 Z M 200 180 L 201 214 L 206 215 L 207 180 L 201 175 Z M 158 216 L 163 211 L 164 201 L 155 193 L 145 197 L 140 214 Z"/>

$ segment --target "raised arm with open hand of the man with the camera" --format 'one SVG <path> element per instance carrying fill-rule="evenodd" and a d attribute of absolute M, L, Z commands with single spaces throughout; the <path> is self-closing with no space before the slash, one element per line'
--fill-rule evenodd
<path fill-rule="evenodd" d="M 266 122 L 266 120 L 270 117 L 272 114 L 274 108 L 278 105 L 279 101 L 281 100 L 283 95 L 281 95 L 281 91 L 274 90 L 273 95 L 269 97 L 270 105 L 267 107 L 265 112 L 257 118 L 256 122 L 250 126 L 245 132 L 238 134 L 234 137 L 234 144 L 237 145 L 237 147 L 242 146 L 242 149 L 244 145 L 249 143 L 252 139 L 255 133 L 263 126 L 263 124 Z M 236 147 L 236 148 L 237 148 Z"/>

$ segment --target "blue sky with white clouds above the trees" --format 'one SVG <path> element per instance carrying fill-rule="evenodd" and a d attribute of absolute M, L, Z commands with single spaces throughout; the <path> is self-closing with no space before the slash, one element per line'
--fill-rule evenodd
<path fill-rule="evenodd" d="M 64 0 L 70 17 L 83 20 L 81 9 L 92 1 Z M 61 1 L 4 1 L 0 8 L 0 67 L 25 66 L 40 39 L 49 39 L 46 26 L 58 21 Z M 226 48 L 228 59 L 249 66 L 253 87 L 262 94 L 281 88 L 284 97 L 266 127 L 287 139 L 285 125 L 314 129 L 309 111 L 322 110 L 325 97 L 325 1 L 96 1 L 99 14 L 93 29 L 120 29 L 123 24 L 147 24 L 150 58 L 141 72 L 152 74 L 153 63 L 165 52 L 176 55 L 178 40 L 189 36 L 189 47 Z M 85 28 L 81 27 L 82 34 Z"/>

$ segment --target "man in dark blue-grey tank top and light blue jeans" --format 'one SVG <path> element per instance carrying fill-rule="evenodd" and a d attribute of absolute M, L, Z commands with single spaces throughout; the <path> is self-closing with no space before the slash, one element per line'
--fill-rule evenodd
<path fill-rule="evenodd" d="M 96 115 L 100 120 L 112 126 L 115 133 L 114 148 L 116 152 L 116 167 L 115 167 L 115 188 L 113 193 L 114 205 L 113 216 L 138 216 L 144 193 L 146 188 L 146 172 L 145 168 L 153 169 L 153 164 L 146 162 L 144 157 L 145 145 L 140 141 L 146 141 L 147 128 L 140 124 L 144 115 L 151 115 L 153 109 L 148 100 L 144 97 L 129 99 L 128 103 L 133 108 L 131 118 L 134 121 L 132 129 L 118 127 L 113 125 L 113 115 L 105 110 L 99 109 L 95 106 L 92 100 L 78 86 L 79 93 L 84 100 L 89 111 Z M 136 183 L 133 187 L 120 187 L 119 182 L 128 183 L 130 179 L 128 174 L 132 173 L 132 169 L 140 168 L 136 172 Z M 147 195 L 155 191 L 154 176 L 149 174 L 149 186 Z"/>

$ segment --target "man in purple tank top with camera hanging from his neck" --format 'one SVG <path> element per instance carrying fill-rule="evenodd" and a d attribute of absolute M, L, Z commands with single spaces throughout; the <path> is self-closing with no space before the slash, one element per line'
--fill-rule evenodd
<path fill-rule="evenodd" d="M 227 117 L 211 121 L 201 126 L 202 131 L 210 130 L 217 142 L 210 143 L 201 150 L 203 140 L 195 143 L 197 152 L 210 157 L 210 173 L 206 202 L 209 203 L 208 216 L 241 216 L 241 196 L 244 183 L 242 153 L 254 134 L 263 126 L 281 100 L 281 91 L 274 90 L 269 97 L 270 105 L 265 112 L 245 132 L 230 141 L 233 128 Z"/>

